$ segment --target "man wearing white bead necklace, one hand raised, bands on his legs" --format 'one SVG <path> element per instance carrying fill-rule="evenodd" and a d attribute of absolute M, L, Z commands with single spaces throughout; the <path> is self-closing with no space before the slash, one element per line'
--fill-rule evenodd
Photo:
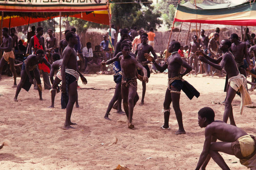
<path fill-rule="evenodd" d="M 168 88 L 165 92 L 164 99 L 164 125 L 161 128 L 167 129 L 169 127 L 169 116 L 170 116 L 170 105 L 172 102 L 173 109 L 175 111 L 176 119 L 178 121 L 179 129 L 175 132 L 175 134 L 184 134 L 186 133 L 183 127 L 182 122 L 182 112 L 180 110 L 180 91 L 183 87 L 182 77 L 189 73 L 192 70 L 192 67 L 181 58 L 178 54 L 178 50 L 180 49 L 180 43 L 178 41 L 172 41 L 168 46 L 168 52 L 171 52 L 172 55 L 168 57 L 167 62 L 163 64 L 163 66 L 158 65 L 152 56 L 149 54 L 145 54 L 145 57 L 152 61 L 160 72 L 164 72 L 165 69 L 168 68 Z M 184 73 L 181 72 L 181 66 L 186 68 Z"/>

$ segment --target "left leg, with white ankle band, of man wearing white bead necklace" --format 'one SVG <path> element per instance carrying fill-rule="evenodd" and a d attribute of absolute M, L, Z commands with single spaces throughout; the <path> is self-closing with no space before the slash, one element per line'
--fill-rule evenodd
<path fill-rule="evenodd" d="M 167 88 L 165 92 L 165 98 L 164 98 L 164 125 L 163 128 L 169 128 L 169 117 L 170 117 L 170 105 L 172 102 L 172 97 L 170 90 Z"/>

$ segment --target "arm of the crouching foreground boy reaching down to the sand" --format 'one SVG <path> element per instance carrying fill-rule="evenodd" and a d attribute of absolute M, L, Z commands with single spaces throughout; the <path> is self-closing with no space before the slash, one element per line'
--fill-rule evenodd
<path fill-rule="evenodd" d="M 200 167 L 203 165 L 204 161 L 206 160 L 209 151 L 210 151 L 210 147 L 211 147 L 211 138 L 212 138 L 212 133 L 210 132 L 210 130 L 208 130 L 208 128 L 205 129 L 205 140 L 204 140 L 204 147 L 203 147 L 203 151 L 199 157 L 199 161 L 197 163 L 197 167 L 195 168 L 195 170 L 199 170 Z"/>

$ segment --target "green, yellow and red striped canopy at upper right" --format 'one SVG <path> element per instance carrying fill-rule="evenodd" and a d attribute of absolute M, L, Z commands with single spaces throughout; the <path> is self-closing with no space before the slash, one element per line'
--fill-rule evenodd
<path fill-rule="evenodd" d="M 256 3 L 244 3 L 219 9 L 191 9 L 178 5 L 175 22 L 256 26 Z"/>

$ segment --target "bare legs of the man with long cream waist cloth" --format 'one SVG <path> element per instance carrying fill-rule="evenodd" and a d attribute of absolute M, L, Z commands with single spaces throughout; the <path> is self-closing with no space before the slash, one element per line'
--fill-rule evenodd
<path fill-rule="evenodd" d="M 225 109 L 223 115 L 223 121 L 227 123 L 228 118 L 230 118 L 230 124 L 235 126 L 234 116 L 233 116 L 233 109 L 231 103 L 235 97 L 236 91 L 232 87 L 228 87 L 227 89 L 227 96 L 225 99 Z"/>

